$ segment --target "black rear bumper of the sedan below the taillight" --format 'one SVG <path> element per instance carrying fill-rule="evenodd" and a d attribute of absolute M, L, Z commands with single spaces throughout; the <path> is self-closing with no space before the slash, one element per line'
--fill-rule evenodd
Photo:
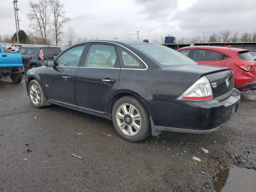
<path fill-rule="evenodd" d="M 221 101 L 143 102 L 150 114 L 152 135 L 161 131 L 206 134 L 232 119 L 239 106 L 240 92 L 234 89 L 228 98 Z"/>

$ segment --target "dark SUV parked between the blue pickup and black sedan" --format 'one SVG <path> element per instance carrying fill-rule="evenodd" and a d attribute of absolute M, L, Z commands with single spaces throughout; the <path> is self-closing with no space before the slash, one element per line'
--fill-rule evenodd
<path fill-rule="evenodd" d="M 45 65 L 45 61 L 54 59 L 60 54 L 60 47 L 24 46 L 18 50 L 22 54 L 25 70 Z"/>

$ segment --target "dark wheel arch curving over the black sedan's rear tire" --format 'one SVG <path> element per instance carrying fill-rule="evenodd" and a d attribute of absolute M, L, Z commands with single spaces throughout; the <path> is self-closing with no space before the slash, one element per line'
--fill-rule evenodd
<path fill-rule="evenodd" d="M 112 116 L 112 108 L 115 104 L 115 102 L 124 97 L 124 96 L 133 96 L 134 98 L 142 101 L 145 100 L 145 98 L 143 98 L 142 96 L 140 96 L 140 94 L 131 91 L 131 90 L 116 90 L 115 92 L 112 92 L 107 99 L 106 102 L 106 113 L 109 114 L 110 118 Z M 143 104 L 144 105 L 144 104 Z M 145 106 L 145 105 L 144 105 Z M 145 106 L 146 107 L 146 106 Z M 147 109 L 147 108 L 146 108 Z M 148 109 L 147 109 L 148 110 Z"/>

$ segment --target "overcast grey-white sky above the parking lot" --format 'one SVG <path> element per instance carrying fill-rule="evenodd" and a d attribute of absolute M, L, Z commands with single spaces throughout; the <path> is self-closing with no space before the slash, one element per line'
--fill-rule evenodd
<path fill-rule="evenodd" d="M 31 29 L 29 0 L 18 0 L 20 29 Z M 256 0 L 61 0 L 79 38 L 135 40 L 256 31 Z M 5 24 L 4 24 L 5 23 Z M 7 24 L 12 23 L 12 24 Z M 16 32 L 12 0 L 0 0 L 0 35 Z"/>

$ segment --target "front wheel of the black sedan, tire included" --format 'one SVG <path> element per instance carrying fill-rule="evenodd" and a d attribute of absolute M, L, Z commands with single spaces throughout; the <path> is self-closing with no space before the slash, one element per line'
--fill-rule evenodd
<path fill-rule="evenodd" d="M 33 88 L 34 88 L 34 91 L 33 91 Z M 36 97 L 34 94 L 36 94 Z M 41 108 L 46 106 L 42 86 L 38 83 L 37 80 L 32 80 L 28 84 L 28 96 L 30 98 L 30 102 L 34 107 Z M 39 96 L 39 99 L 38 99 L 38 96 Z"/>

